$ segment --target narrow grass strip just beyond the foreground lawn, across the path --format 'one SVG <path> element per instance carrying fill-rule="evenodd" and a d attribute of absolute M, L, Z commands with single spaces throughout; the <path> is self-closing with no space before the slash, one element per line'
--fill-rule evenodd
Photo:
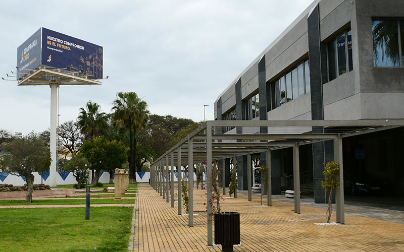
<path fill-rule="evenodd" d="M 133 199 L 122 199 L 115 201 L 114 199 L 91 199 L 90 204 L 134 204 Z M 0 206 L 16 206 L 16 205 L 76 205 L 85 204 L 85 198 L 68 199 L 68 200 L 32 200 L 32 203 L 25 203 L 25 200 L 0 200 Z M 0 210 L 3 211 L 3 210 Z M 1 248 L 1 246 L 0 246 Z"/>

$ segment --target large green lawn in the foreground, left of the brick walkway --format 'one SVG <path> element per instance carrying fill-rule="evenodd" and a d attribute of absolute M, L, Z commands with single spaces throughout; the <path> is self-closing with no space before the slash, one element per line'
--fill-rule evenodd
<path fill-rule="evenodd" d="M 2 209 L 1 251 L 128 251 L 133 208 Z"/>

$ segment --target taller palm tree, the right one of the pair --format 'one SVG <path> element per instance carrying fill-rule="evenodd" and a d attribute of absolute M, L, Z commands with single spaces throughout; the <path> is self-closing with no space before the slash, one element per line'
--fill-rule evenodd
<path fill-rule="evenodd" d="M 135 92 L 120 92 L 112 109 L 118 125 L 129 131 L 129 181 L 133 183 L 136 182 L 136 132 L 146 125 L 149 113 L 147 103 Z"/>

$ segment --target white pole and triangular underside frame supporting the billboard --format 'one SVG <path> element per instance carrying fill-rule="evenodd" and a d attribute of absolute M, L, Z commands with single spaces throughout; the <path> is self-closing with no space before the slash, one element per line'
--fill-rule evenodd
<path fill-rule="evenodd" d="M 22 71 L 22 70 L 21 70 Z M 81 72 L 72 72 L 66 69 L 44 69 L 39 68 L 30 71 L 18 81 L 18 86 L 47 86 L 51 87 L 51 127 L 50 127 L 50 149 L 51 166 L 49 167 L 49 185 L 56 186 L 56 165 L 57 165 L 57 91 L 60 85 L 100 85 L 97 79 L 90 79 L 90 76 L 83 76 Z"/>

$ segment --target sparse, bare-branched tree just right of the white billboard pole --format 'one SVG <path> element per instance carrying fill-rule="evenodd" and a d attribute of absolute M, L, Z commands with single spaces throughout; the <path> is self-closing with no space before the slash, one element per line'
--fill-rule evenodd
<path fill-rule="evenodd" d="M 69 153 L 77 154 L 78 147 L 81 145 L 80 128 L 77 122 L 70 120 L 59 126 L 59 142 L 68 150 L 64 153 L 65 158 Z"/>

